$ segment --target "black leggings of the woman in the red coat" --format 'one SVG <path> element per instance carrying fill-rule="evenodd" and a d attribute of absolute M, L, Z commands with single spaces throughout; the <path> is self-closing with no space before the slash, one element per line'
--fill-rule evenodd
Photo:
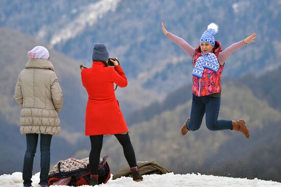
<path fill-rule="evenodd" d="M 124 155 L 130 168 L 136 167 L 134 148 L 131 144 L 129 134 L 114 134 L 123 147 Z M 90 171 L 92 175 L 98 175 L 99 161 L 103 146 L 103 135 L 90 136 L 91 152 L 89 156 Z"/>

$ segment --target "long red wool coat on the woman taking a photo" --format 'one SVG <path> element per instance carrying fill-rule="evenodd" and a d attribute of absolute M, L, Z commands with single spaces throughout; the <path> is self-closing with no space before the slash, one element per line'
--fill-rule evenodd
<path fill-rule="evenodd" d="M 85 135 L 119 134 L 128 131 L 114 93 L 114 85 L 126 87 L 128 82 L 120 65 L 106 67 L 93 62 L 81 71 L 82 84 L 88 92 Z"/>

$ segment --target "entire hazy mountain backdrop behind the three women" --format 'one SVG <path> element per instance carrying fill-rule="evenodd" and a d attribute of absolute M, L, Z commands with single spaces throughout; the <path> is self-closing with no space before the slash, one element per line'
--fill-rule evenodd
<path fill-rule="evenodd" d="M 20 109 L 12 96 L 17 75 L 28 61 L 27 52 L 39 44 L 50 50 L 64 93 L 59 114 L 63 130 L 54 137 L 52 163 L 88 156 L 89 139 L 84 136 L 87 94 L 80 82 L 79 64 L 91 66 L 93 43 L 104 42 L 110 57 L 119 57 L 128 78 L 128 87 L 115 93 L 131 130 L 137 159 L 155 159 L 176 173 L 203 171 L 279 180 L 279 160 L 274 158 L 279 157 L 281 123 L 280 1 L 122 0 L 99 14 L 95 24 L 86 24 L 76 37 L 51 48 L 55 31 L 84 15 L 90 5 L 104 2 L 113 1 L 1 2 L 0 132 L 4 135 L 0 148 L 5 151 L 1 153 L 0 174 L 22 167 L 25 137 L 18 131 Z M 257 33 L 256 43 L 226 61 L 219 116 L 245 118 L 249 140 L 238 132 L 210 132 L 204 122 L 199 131 L 180 136 L 179 129 L 190 113 L 193 66 L 188 55 L 162 34 L 161 21 L 168 31 L 194 47 L 213 21 L 220 27 L 216 40 L 222 42 L 223 49 Z M 117 171 L 126 161 L 114 137 L 108 138 L 102 154 L 109 154 L 112 171 Z M 38 160 L 36 167 L 38 171 Z"/>

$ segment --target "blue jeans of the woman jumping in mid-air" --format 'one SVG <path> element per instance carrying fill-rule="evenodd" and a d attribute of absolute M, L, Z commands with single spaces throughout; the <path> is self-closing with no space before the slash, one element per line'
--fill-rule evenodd
<path fill-rule="evenodd" d="M 206 126 L 209 130 L 232 129 L 230 120 L 218 120 L 221 105 L 221 98 L 212 96 L 195 96 L 192 97 L 192 107 L 190 121 L 187 127 L 191 131 L 200 128 L 203 116 L 206 113 Z"/>

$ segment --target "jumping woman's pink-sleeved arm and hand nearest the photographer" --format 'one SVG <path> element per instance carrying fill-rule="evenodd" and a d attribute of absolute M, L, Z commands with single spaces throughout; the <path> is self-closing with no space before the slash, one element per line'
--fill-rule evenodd
<path fill-rule="evenodd" d="M 162 26 L 163 34 L 166 35 L 173 42 L 175 42 L 177 45 L 179 45 L 180 48 L 183 51 L 185 51 L 185 53 L 189 54 L 189 56 L 191 58 L 193 58 L 193 56 L 195 54 L 195 49 L 188 42 L 186 42 L 184 39 L 182 39 L 182 38 L 180 38 L 180 37 L 178 37 L 176 35 L 173 35 L 172 33 L 168 32 L 165 29 L 163 22 L 162 22 L 161 26 Z"/>

